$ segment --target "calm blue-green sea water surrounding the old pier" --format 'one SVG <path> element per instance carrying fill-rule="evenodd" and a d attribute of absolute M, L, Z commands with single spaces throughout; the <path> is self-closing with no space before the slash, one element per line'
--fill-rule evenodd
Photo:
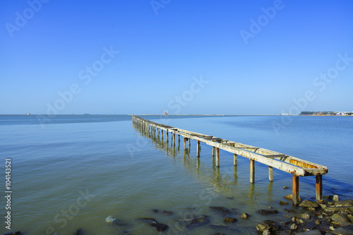
<path fill-rule="evenodd" d="M 353 198 L 350 116 L 143 117 L 323 164 L 329 169 L 323 176 L 323 194 Z M 11 231 L 23 234 L 75 234 L 78 229 L 108 235 L 253 234 L 256 224 L 264 219 L 285 221 L 285 208 L 292 209 L 290 202 L 279 205 L 292 193 L 283 188 L 292 185 L 292 175 L 274 169 L 274 181 L 269 182 L 268 167 L 256 164 L 256 183 L 251 184 L 249 159 L 239 156 L 234 167 L 232 154 L 221 150 L 217 168 L 212 147 L 201 144 L 197 158 L 196 143 L 184 152 L 181 138 L 174 148 L 141 133 L 128 115 L 2 115 L 0 156 L 3 175 L 5 159 L 11 158 Z M 5 179 L 2 188 L 5 191 Z M 299 194 L 315 197 L 314 176 L 300 178 Z M 227 207 L 238 222 L 224 224 L 211 206 Z M 280 214 L 256 212 L 270 206 Z M 251 218 L 241 219 L 242 212 Z M 202 215 L 209 216 L 208 224 L 184 226 Z M 157 232 L 138 219 L 143 217 L 153 217 L 169 229 Z M 1 224 L 1 233 L 8 231 Z"/>

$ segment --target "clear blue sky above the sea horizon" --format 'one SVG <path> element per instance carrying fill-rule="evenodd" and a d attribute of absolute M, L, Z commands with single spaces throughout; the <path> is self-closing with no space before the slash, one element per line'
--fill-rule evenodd
<path fill-rule="evenodd" d="M 0 114 L 353 111 L 353 1 L 42 1 L 0 3 Z"/>

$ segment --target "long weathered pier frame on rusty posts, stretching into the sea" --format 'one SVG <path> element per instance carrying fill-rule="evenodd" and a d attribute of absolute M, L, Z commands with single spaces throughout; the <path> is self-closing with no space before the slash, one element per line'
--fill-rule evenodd
<path fill-rule="evenodd" d="M 166 141 L 169 142 L 169 133 L 172 143 L 175 145 L 175 135 L 184 138 L 184 149 L 186 149 L 186 141 L 196 140 L 196 156 L 200 157 L 201 143 L 213 146 L 212 155 L 216 155 L 216 166 L 220 167 L 220 149 L 234 153 L 234 166 L 237 165 L 237 156 L 243 156 L 250 159 L 250 182 L 255 182 L 255 161 L 268 165 L 268 179 L 273 181 L 273 167 L 281 171 L 288 172 L 293 175 L 292 184 L 292 200 L 294 205 L 299 205 L 299 176 L 316 176 L 316 200 L 321 200 L 323 196 L 323 174 L 328 173 L 328 167 L 320 164 L 308 162 L 297 157 L 282 154 L 272 150 L 266 150 L 261 147 L 253 147 L 237 143 L 231 140 L 217 138 L 212 135 L 203 135 L 193 131 L 186 131 L 181 128 L 167 126 L 160 123 L 133 116 L 133 123 L 140 126 L 143 131 L 150 131 L 155 135 L 164 138 L 165 131 Z"/>

